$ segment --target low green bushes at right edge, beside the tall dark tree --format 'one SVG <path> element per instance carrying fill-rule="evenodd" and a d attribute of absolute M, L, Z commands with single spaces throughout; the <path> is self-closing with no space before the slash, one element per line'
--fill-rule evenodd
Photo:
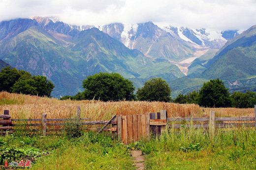
<path fill-rule="evenodd" d="M 230 97 L 235 108 L 254 108 L 256 104 L 256 92 L 253 91 L 246 93 L 235 91 Z"/>

